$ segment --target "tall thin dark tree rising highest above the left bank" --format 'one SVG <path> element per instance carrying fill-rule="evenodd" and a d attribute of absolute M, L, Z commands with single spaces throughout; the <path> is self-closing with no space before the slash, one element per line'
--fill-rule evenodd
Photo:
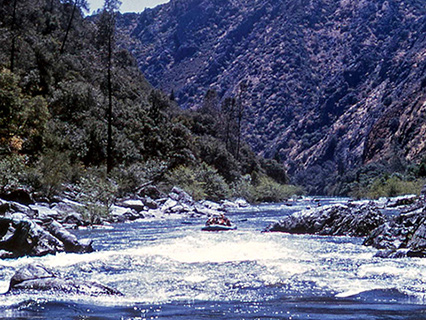
<path fill-rule="evenodd" d="M 107 65 L 107 91 L 108 91 L 108 108 L 107 108 L 107 173 L 110 173 L 113 167 L 112 161 L 112 67 L 113 67 L 113 51 L 115 48 L 115 28 L 116 28 L 116 12 L 120 8 L 121 1 L 105 0 L 99 17 L 98 40 L 103 47 L 104 59 Z"/>

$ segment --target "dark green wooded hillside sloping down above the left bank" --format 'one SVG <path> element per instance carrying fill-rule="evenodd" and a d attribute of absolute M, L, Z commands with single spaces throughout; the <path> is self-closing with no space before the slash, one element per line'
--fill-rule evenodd
<path fill-rule="evenodd" d="M 0 1 L 1 192 L 29 186 L 53 197 L 74 185 L 125 196 L 154 184 L 264 201 L 296 191 L 283 186 L 281 164 L 241 139 L 237 95 L 221 104 L 211 92 L 199 111 L 182 111 L 109 42 L 104 15 L 114 10 L 84 18 L 84 6 Z"/>

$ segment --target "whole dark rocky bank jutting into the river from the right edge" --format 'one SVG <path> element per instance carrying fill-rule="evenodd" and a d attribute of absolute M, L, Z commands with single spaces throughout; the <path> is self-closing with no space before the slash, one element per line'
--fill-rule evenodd
<path fill-rule="evenodd" d="M 265 232 L 365 237 L 383 258 L 426 257 L 426 201 L 399 197 L 296 212 Z"/>

